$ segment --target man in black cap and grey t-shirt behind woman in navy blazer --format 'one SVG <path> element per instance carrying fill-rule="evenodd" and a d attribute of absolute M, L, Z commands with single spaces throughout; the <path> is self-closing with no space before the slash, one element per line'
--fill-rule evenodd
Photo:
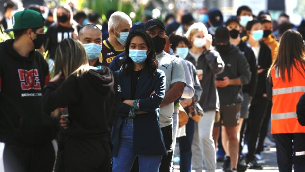
<path fill-rule="evenodd" d="M 172 114 L 174 112 L 174 102 L 182 96 L 186 85 L 185 73 L 181 61 L 172 55 L 164 52 L 165 27 L 158 19 L 151 19 L 145 24 L 145 30 L 153 40 L 157 59 L 158 69 L 163 70 L 166 75 L 165 96 L 160 105 L 160 127 L 164 138 L 168 155 L 162 157 L 159 172 L 169 172 L 172 160 Z"/>

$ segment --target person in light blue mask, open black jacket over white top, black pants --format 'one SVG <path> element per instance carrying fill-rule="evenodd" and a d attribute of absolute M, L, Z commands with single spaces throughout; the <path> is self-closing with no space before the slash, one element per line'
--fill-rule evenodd
<path fill-rule="evenodd" d="M 265 113 L 268 105 L 266 98 L 266 76 L 268 68 L 272 63 L 271 49 L 262 41 L 263 30 L 262 25 L 258 20 L 252 20 L 247 23 L 246 33 L 247 36 L 242 38 L 242 41 L 247 42 L 255 55 L 257 65 L 257 84 L 254 96 L 251 100 L 251 106 L 249 108 L 249 118 L 247 126 L 248 138 L 248 154 L 246 156 L 246 162 L 250 164 L 251 169 L 260 168 L 255 159 L 255 153 L 257 151 L 257 140 L 261 125 L 265 119 Z"/>

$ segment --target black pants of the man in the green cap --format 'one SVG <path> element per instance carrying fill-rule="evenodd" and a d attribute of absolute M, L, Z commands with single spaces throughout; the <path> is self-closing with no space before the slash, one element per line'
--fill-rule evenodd
<path fill-rule="evenodd" d="M 52 172 L 55 151 L 52 142 L 31 147 L 5 144 L 3 163 L 5 172 Z"/>

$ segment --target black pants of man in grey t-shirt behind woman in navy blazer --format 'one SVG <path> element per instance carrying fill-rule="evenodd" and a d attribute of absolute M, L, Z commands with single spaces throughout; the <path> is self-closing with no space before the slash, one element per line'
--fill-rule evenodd
<path fill-rule="evenodd" d="M 171 160 L 172 160 L 172 156 L 173 156 L 173 154 L 172 154 L 172 125 L 162 127 L 161 131 L 162 131 L 163 138 L 164 138 L 165 148 L 168 151 L 168 155 L 162 157 L 159 172 L 169 172 Z"/>

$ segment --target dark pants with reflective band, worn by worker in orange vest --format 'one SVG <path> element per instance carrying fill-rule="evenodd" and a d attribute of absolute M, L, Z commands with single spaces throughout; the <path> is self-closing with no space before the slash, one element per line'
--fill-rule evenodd
<path fill-rule="evenodd" d="M 280 172 L 305 172 L 305 133 L 274 134 Z"/>

